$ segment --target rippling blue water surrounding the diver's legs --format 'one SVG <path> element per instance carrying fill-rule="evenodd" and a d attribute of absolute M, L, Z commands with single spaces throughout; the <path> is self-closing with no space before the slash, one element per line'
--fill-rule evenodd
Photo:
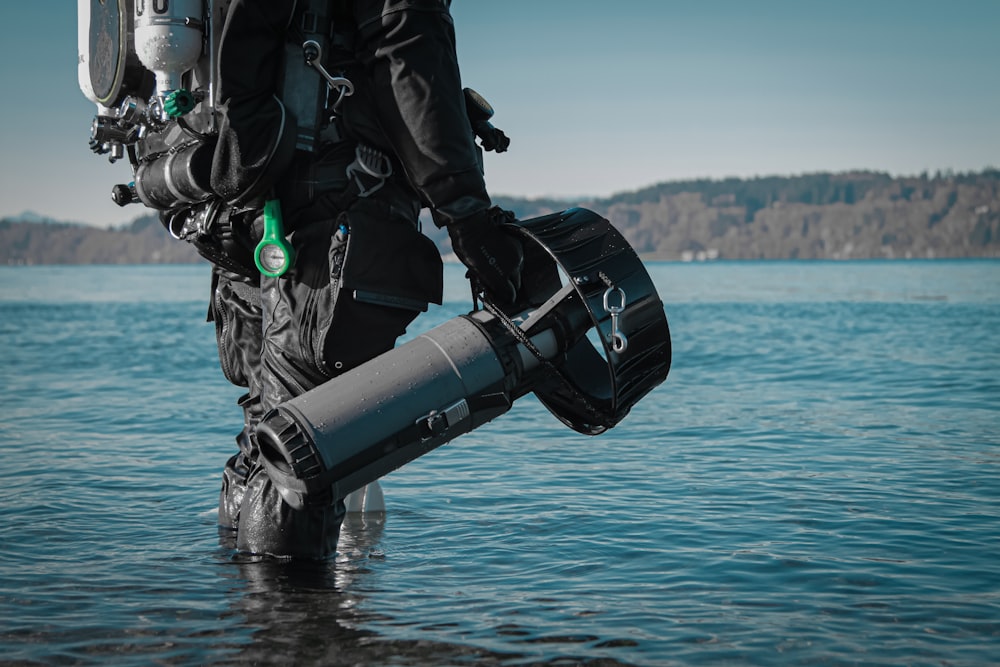
<path fill-rule="evenodd" d="M 1000 262 L 649 268 L 621 425 L 523 399 L 305 566 L 218 542 L 206 267 L 0 267 L 0 662 L 997 664 Z"/>

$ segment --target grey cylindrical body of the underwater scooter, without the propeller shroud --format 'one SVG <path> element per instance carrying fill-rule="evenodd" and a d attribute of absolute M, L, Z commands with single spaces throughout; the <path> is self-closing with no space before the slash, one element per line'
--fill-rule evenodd
<path fill-rule="evenodd" d="M 457 317 L 282 403 L 256 432 L 268 475 L 293 507 L 346 496 L 509 410 L 519 373 L 502 356 Z"/>

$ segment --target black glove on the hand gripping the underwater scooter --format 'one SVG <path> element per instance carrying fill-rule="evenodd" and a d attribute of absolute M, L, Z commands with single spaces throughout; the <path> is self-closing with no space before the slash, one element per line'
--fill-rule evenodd
<path fill-rule="evenodd" d="M 500 225 L 514 214 L 498 206 L 448 224 L 455 255 L 469 269 L 486 294 L 499 304 L 512 304 L 521 289 L 524 250 L 521 242 Z"/>

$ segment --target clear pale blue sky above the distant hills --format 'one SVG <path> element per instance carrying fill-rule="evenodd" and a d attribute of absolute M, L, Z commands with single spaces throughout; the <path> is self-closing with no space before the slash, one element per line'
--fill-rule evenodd
<path fill-rule="evenodd" d="M 454 0 L 466 85 L 512 138 L 495 194 L 1000 167 L 1000 0 Z M 108 225 L 130 178 L 87 148 L 76 5 L 4 3 L 0 216 Z"/>

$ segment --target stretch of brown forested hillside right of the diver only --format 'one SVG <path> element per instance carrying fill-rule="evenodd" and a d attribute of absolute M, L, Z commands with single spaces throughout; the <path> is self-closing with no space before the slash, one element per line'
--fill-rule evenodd
<path fill-rule="evenodd" d="M 519 215 L 558 202 L 504 200 Z M 1000 170 L 670 182 L 583 203 L 657 259 L 1000 257 Z"/>

